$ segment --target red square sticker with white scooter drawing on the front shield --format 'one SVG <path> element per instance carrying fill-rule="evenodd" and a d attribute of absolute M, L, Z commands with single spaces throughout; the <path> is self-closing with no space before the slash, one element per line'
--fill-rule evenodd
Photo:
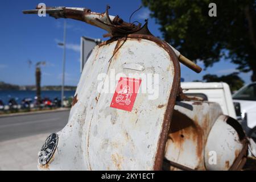
<path fill-rule="evenodd" d="M 121 77 L 115 88 L 110 107 L 131 111 L 140 85 L 141 79 Z"/>

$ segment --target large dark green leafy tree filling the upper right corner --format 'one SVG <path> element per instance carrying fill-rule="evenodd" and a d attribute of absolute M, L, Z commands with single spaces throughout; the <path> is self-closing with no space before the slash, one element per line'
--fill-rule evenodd
<path fill-rule="evenodd" d="M 241 72 L 253 71 L 256 81 L 255 0 L 142 0 L 160 24 L 164 39 L 205 68 L 230 59 Z M 216 3 L 217 16 L 208 15 Z"/>

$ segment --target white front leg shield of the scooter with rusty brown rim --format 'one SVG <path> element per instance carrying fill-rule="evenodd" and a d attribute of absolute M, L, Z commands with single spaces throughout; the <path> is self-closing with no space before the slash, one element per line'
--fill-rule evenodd
<path fill-rule="evenodd" d="M 179 80 L 174 51 L 154 36 L 131 35 L 96 46 L 68 124 L 57 133 L 52 155 L 43 156 L 47 143 L 42 148 L 46 162 L 39 169 L 161 169 Z M 120 85 L 129 86 L 130 95 L 116 102 Z"/>

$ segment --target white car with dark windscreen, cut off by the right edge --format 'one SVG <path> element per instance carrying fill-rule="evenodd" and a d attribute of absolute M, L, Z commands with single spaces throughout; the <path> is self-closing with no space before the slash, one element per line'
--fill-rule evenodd
<path fill-rule="evenodd" d="M 233 101 L 239 102 L 242 111 L 242 126 L 249 137 L 256 140 L 256 82 L 243 86 L 233 94 Z"/>

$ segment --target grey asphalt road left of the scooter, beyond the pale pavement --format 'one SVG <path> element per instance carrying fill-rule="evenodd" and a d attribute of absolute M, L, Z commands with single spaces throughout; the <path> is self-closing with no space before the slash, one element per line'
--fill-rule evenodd
<path fill-rule="evenodd" d="M 69 110 L 0 117 L 0 141 L 57 132 L 67 124 Z"/>

